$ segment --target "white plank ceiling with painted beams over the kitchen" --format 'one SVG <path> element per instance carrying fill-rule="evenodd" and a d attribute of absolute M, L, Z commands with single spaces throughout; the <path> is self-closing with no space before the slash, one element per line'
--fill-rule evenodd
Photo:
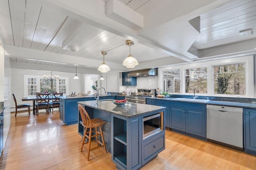
<path fill-rule="evenodd" d="M 193 62 L 204 57 L 199 51 L 230 43 L 241 43 L 238 53 L 256 49 L 256 0 L 119 1 L 124 12 L 129 8 L 144 17 L 143 28 L 109 19 L 104 12 L 108 0 L 0 0 L 0 41 L 6 57 L 12 63 L 78 64 L 96 70 L 103 60 L 100 51 L 107 51 L 110 69 L 128 70 L 122 62 L 129 54 L 125 41 L 131 39 L 131 54 L 140 63 L 136 70 Z M 198 16 L 199 32 L 188 23 Z M 240 35 L 247 29 L 251 33 Z M 255 43 L 249 50 L 244 49 L 248 40 Z M 26 54 L 14 53 L 20 50 Z M 38 59 L 34 50 L 47 57 Z"/>

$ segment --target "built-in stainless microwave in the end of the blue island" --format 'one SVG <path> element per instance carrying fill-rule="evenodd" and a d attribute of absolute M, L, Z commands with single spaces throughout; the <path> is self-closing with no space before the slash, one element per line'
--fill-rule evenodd
<path fill-rule="evenodd" d="M 143 117 L 143 138 L 163 130 L 163 112 Z"/>

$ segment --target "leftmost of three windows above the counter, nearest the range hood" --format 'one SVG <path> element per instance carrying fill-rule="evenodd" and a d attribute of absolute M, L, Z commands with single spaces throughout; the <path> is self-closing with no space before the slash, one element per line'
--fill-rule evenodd
<path fill-rule="evenodd" d="M 164 90 L 180 93 L 180 70 L 164 71 Z"/>

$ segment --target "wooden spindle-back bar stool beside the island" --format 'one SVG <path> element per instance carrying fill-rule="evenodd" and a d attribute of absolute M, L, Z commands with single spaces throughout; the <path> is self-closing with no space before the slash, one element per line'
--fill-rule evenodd
<path fill-rule="evenodd" d="M 82 145 L 81 145 L 81 152 L 84 147 L 87 150 L 87 160 L 89 160 L 90 150 L 94 150 L 99 147 L 104 147 L 105 151 L 107 152 L 104 136 L 102 133 L 102 127 L 101 127 L 102 125 L 104 125 L 106 123 L 106 121 L 104 121 L 100 118 L 90 119 L 90 116 L 88 115 L 87 111 L 80 104 L 78 104 L 78 109 L 79 109 L 80 115 L 82 117 L 83 127 L 85 127 L 84 136 L 83 136 Z M 100 132 L 98 131 L 98 127 L 100 128 Z M 95 130 L 93 130 L 93 128 L 95 128 Z M 87 130 L 89 130 L 89 131 L 87 131 Z M 92 134 L 93 132 L 95 132 L 95 133 Z M 89 133 L 89 135 L 87 135 L 88 133 Z M 99 141 L 99 137 L 98 137 L 99 135 L 101 136 L 102 142 Z M 86 137 L 88 138 L 88 142 L 84 142 Z M 96 137 L 96 139 L 92 140 L 92 137 Z M 90 148 L 92 141 L 97 142 L 97 146 L 94 148 Z M 85 147 L 84 146 L 85 144 L 88 144 L 88 146 Z"/>

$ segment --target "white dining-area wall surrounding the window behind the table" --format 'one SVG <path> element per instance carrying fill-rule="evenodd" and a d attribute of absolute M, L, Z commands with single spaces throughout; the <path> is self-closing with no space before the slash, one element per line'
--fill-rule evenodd
<path fill-rule="evenodd" d="M 49 71 L 39 71 L 39 70 L 25 70 L 12 68 L 11 76 L 11 94 L 14 94 L 18 104 L 30 104 L 32 106 L 32 101 L 22 102 L 21 98 L 24 97 L 24 75 L 39 75 L 43 76 L 44 74 L 49 74 Z M 82 92 L 82 74 L 77 73 L 80 79 L 73 79 L 75 74 L 70 72 L 52 72 L 52 75 L 59 75 L 60 77 L 68 77 L 68 91 L 67 94 L 70 94 L 72 91 L 79 93 Z M 15 107 L 14 101 L 12 100 L 12 107 Z"/>

